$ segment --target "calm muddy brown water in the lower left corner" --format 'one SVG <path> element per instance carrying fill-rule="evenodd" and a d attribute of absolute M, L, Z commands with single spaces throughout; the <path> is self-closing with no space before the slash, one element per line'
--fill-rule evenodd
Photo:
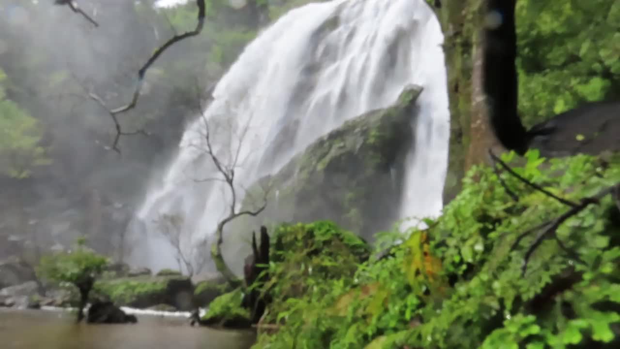
<path fill-rule="evenodd" d="M 138 315 L 138 324 L 75 324 L 71 314 L 0 309 L 2 349 L 247 349 L 251 332 L 190 327 L 184 318 Z"/>

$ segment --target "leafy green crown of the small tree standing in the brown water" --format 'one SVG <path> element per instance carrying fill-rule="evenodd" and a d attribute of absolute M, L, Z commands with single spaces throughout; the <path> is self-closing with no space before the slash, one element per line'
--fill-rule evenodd
<path fill-rule="evenodd" d="M 37 266 L 37 275 L 55 283 L 78 284 L 87 278 L 96 278 L 108 265 L 108 259 L 78 241 L 69 252 L 43 256 Z"/>

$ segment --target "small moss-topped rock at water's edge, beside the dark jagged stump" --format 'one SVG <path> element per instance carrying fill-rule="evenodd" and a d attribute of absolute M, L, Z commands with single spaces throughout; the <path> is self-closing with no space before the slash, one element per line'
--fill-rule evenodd
<path fill-rule="evenodd" d="M 235 289 L 216 297 L 209 304 L 209 309 L 203 315 L 201 323 L 229 329 L 249 328 L 252 325 L 250 311 L 241 306 L 243 297 L 242 289 Z"/>

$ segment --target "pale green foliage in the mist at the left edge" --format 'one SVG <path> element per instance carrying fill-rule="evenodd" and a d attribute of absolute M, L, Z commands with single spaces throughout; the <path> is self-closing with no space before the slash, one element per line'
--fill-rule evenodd
<path fill-rule="evenodd" d="M 7 76 L 0 69 L 0 174 L 21 179 L 49 160 L 39 145 L 43 133 L 38 120 L 6 99 L 5 84 Z"/>

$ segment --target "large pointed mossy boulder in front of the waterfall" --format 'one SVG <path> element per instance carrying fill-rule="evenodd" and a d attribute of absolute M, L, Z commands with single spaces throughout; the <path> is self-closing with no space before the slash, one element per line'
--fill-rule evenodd
<path fill-rule="evenodd" d="M 397 219 L 404 160 L 414 141 L 415 102 L 422 88 L 407 86 L 392 107 L 367 112 L 312 143 L 277 174 L 249 189 L 244 208 L 270 188 L 258 220 L 241 217 L 231 230 L 269 221 L 329 219 L 371 238 Z M 247 236 L 247 235 L 246 235 Z"/>

